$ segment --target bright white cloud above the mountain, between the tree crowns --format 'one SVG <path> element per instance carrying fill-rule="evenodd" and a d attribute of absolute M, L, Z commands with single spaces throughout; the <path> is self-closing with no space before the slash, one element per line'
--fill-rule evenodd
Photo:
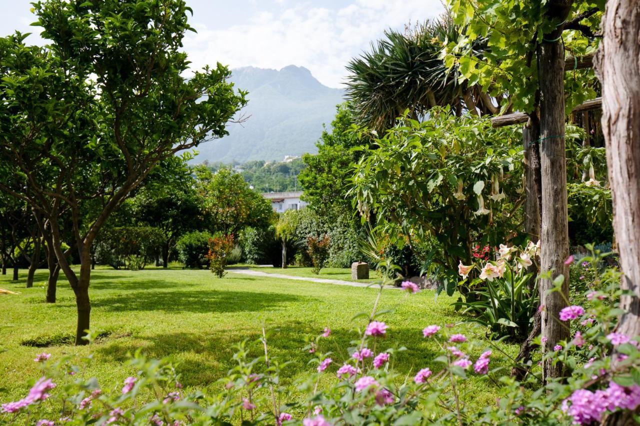
<path fill-rule="evenodd" d="M 184 40 L 192 66 L 220 61 L 232 68 L 280 69 L 292 64 L 308 68 L 323 84 L 339 87 L 348 61 L 369 49 L 385 29 L 402 29 L 409 21 L 431 19 L 443 11 L 439 0 L 355 0 L 333 9 L 290 4 L 225 29 L 210 28 L 196 15 L 191 22 L 198 34 L 189 33 Z"/>

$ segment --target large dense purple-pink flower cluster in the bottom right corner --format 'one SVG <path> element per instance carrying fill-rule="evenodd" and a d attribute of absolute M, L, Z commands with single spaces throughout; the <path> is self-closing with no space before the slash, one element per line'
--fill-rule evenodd
<path fill-rule="evenodd" d="M 635 410 L 640 406 L 640 386 L 634 384 L 625 388 L 614 382 L 609 383 L 609 388 L 596 390 L 595 392 L 579 389 L 564 400 L 563 411 L 573 417 L 573 422 L 579 425 L 588 425 L 593 422 L 600 423 L 605 411 L 616 409 Z"/>

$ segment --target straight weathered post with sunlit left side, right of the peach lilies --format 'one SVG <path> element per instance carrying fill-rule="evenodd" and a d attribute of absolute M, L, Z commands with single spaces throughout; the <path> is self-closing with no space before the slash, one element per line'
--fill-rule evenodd
<path fill-rule="evenodd" d="M 562 21 L 568 15 L 571 1 L 549 4 L 547 19 Z M 553 13 L 553 15 L 550 15 Z M 540 155 L 541 155 L 541 273 L 550 278 L 540 280 L 542 335 L 547 338 L 543 353 L 552 351 L 561 340 L 568 340 L 569 329 L 559 319 L 569 299 L 569 233 L 566 192 L 566 159 L 564 148 L 564 46 L 559 38 L 562 27 L 544 36 L 538 47 L 538 79 L 540 84 Z M 547 41 L 550 40 L 550 41 Z M 553 280 L 564 276 L 561 292 L 552 292 Z M 563 365 L 543 363 L 543 380 L 562 377 Z"/>

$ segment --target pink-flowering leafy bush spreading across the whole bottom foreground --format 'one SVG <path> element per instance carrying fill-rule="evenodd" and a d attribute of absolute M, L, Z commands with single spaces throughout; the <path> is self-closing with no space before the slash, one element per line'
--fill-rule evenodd
<path fill-rule="evenodd" d="M 74 367 L 68 358 L 44 353 L 35 359 L 43 369 L 40 379 L 32 382 L 26 397 L 1 405 L 0 423 L 590 425 L 611 416 L 631 422 L 640 406 L 640 336 L 615 329 L 622 313 L 617 306 L 619 277 L 617 271 L 603 271 L 598 285 L 584 295 L 586 303 L 566 309 L 563 324 L 572 338 L 535 356 L 522 381 L 504 374 L 509 356 L 484 333 L 460 333 L 446 324 L 415 329 L 438 351 L 432 361 L 413 366 L 409 376 L 400 374 L 394 364 L 405 348 L 387 343 L 394 329 L 384 320 L 390 314 L 376 311 L 381 287 L 372 312 L 354 318 L 356 331 L 348 348 L 329 351 L 328 327 L 308 342 L 303 350 L 310 369 L 296 385 L 282 385 L 287 363 L 271 356 L 264 328 L 258 340 L 236 346 L 236 366 L 221 380 L 223 390 L 208 397 L 185 391 L 170 363 L 146 359 L 140 352 L 129 361 L 136 374 L 108 386 L 111 390 L 84 377 L 86 366 Z M 260 356 L 252 358 L 256 350 Z M 545 357 L 563 363 L 572 375 L 543 384 L 535 361 Z M 470 375 L 498 388 L 495 405 L 477 409 L 469 404 L 473 390 L 463 387 Z"/>

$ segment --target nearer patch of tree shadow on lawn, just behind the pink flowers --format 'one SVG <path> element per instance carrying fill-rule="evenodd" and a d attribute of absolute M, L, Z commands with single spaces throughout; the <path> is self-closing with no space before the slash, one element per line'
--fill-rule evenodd
<path fill-rule="evenodd" d="M 269 356 L 288 361 L 282 374 L 284 383 L 291 383 L 292 379 L 300 374 L 308 375 L 316 372 L 315 365 L 309 365 L 309 361 L 316 358 L 316 354 L 303 351 L 305 338 L 312 338 L 317 333 L 317 324 L 309 324 L 303 321 L 274 324 L 269 328 L 268 347 Z M 233 355 L 236 352 L 234 345 L 245 338 L 255 341 L 260 338 L 261 330 L 257 325 L 255 331 L 214 331 L 211 335 L 204 333 L 166 333 L 140 336 L 146 342 L 140 345 L 138 342 L 114 342 L 95 349 L 98 358 L 106 358 L 113 361 L 125 362 L 127 354 L 134 353 L 141 348 L 142 353 L 148 358 L 170 358 L 179 361 L 177 372 L 182 376 L 182 383 L 186 386 L 199 388 L 211 386 L 217 380 L 226 377 L 228 370 L 236 365 Z M 437 346 L 417 336 L 414 329 L 396 329 L 394 338 L 380 339 L 376 342 L 376 353 L 385 351 L 388 347 L 406 345 L 409 349 L 397 352 L 394 355 L 394 370 L 403 375 L 415 375 L 420 368 L 431 367 L 437 372 L 440 367 L 434 362 L 438 355 Z M 352 340 L 358 336 L 348 329 L 335 329 L 330 338 L 320 341 L 319 352 L 332 351 L 333 359 L 330 372 L 335 372 L 344 361 L 349 358 L 349 347 L 354 347 Z M 371 342 L 371 349 L 373 349 Z M 262 343 L 251 346 L 249 359 L 264 355 Z M 181 356 L 184 354 L 185 356 Z M 477 356 L 477 355 L 476 355 Z M 371 363 L 371 359 L 367 362 Z M 258 371 L 261 367 L 258 368 Z"/>

